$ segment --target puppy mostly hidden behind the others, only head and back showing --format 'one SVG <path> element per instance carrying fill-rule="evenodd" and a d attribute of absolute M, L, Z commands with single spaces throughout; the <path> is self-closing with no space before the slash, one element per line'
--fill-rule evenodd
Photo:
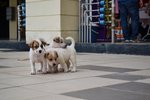
<path fill-rule="evenodd" d="M 64 41 L 63 37 L 57 36 L 53 39 L 50 47 L 52 48 L 66 48 L 67 44 Z"/>

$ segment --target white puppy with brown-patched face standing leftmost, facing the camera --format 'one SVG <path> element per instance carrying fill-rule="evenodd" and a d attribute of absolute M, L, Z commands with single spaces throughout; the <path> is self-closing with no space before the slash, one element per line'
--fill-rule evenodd
<path fill-rule="evenodd" d="M 35 39 L 30 44 L 30 51 L 29 51 L 29 59 L 31 64 L 31 75 L 36 74 L 35 63 L 40 63 L 41 68 L 40 72 L 46 73 L 47 72 L 47 62 L 44 58 L 45 48 L 44 46 L 48 45 L 42 39 Z"/>

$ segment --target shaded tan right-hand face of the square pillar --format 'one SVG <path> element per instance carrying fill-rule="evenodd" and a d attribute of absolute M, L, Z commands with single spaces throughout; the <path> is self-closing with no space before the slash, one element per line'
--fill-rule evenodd
<path fill-rule="evenodd" d="M 78 41 L 79 0 L 61 0 L 61 35 Z"/>

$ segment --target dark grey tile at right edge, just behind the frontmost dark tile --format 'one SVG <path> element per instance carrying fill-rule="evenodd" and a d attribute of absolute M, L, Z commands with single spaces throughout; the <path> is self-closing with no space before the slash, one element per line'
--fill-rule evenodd
<path fill-rule="evenodd" d="M 107 87 L 150 95 L 150 84 L 148 83 L 129 82 L 129 83 L 123 83 L 117 85 L 110 85 Z"/>

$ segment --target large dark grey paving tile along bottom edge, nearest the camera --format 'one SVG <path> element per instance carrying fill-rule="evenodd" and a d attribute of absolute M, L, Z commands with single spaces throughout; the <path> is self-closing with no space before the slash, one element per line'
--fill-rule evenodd
<path fill-rule="evenodd" d="M 150 100 L 150 95 L 119 91 L 104 87 L 68 92 L 62 95 L 86 100 Z"/>

